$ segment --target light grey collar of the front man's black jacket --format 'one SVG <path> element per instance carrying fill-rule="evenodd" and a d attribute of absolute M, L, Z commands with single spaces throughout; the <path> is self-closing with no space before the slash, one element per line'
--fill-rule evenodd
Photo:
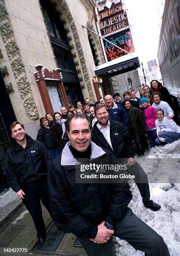
<path fill-rule="evenodd" d="M 70 151 L 70 141 L 68 141 L 62 150 L 62 156 L 61 156 L 61 165 L 62 166 L 75 166 L 77 164 L 80 164 L 77 162 L 77 160 L 74 158 Z M 100 156 L 103 156 L 105 154 L 105 151 L 102 150 L 99 146 L 97 146 L 94 142 L 91 141 L 91 159 L 96 159 Z"/>

